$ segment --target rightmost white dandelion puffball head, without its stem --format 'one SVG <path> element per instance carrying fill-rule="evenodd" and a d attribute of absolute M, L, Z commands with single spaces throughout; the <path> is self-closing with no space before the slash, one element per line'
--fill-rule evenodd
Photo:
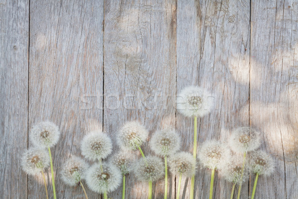
<path fill-rule="evenodd" d="M 252 154 L 250 170 L 255 174 L 270 176 L 274 172 L 274 160 L 264 151 L 257 151 Z"/>

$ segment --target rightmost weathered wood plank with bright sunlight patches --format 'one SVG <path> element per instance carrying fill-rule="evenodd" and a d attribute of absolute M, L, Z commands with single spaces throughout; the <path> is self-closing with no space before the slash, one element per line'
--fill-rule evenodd
<path fill-rule="evenodd" d="M 256 197 L 296 199 L 298 3 L 252 0 L 251 10 L 251 125 L 276 162 L 273 178 L 259 178 Z"/>

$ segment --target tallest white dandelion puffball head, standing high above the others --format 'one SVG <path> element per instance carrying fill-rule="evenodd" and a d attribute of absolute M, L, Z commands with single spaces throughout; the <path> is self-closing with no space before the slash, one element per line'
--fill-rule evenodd
<path fill-rule="evenodd" d="M 177 109 L 187 117 L 203 117 L 214 106 L 214 97 L 204 88 L 190 86 L 184 88 L 176 99 Z"/>

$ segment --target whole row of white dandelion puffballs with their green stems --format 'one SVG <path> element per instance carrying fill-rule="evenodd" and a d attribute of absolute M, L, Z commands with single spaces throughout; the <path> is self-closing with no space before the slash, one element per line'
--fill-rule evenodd
<path fill-rule="evenodd" d="M 164 199 L 167 199 L 167 176 L 171 172 L 179 179 L 176 198 L 179 199 L 180 196 L 182 177 L 187 177 L 191 178 L 187 198 L 193 199 L 195 175 L 199 169 L 207 168 L 211 170 L 209 199 L 214 195 L 216 172 L 231 183 L 230 199 L 233 199 L 235 186 L 238 187 L 237 199 L 240 199 L 242 183 L 248 179 L 249 173 L 255 174 L 251 196 L 254 199 L 258 177 L 271 175 L 274 161 L 266 152 L 258 150 L 261 145 L 260 133 L 249 127 L 236 128 L 226 143 L 208 140 L 199 144 L 197 149 L 197 117 L 208 114 L 213 104 L 212 95 L 200 87 L 187 87 L 177 97 L 178 110 L 194 119 L 193 154 L 180 150 L 180 136 L 175 128 L 167 127 L 154 132 L 150 138 L 149 145 L 155 156 L 145 155 L 142 146 L 148 139 L 149 131 L 138 121 L 130 121 L 119 129 L 116 135 L 119 151 L 113 155 L 112 141 L 107 133 L 100 129 L 86 132 L 81 141 L 81 154 L 92 164 L 89 165 L 83 158 L 72 156 L 61 167 L 61 179 L 68 186 L 81 186 L 86 199 L 88 196 L 84 184 L 91 191 L 103 194 L 104 199 L 108 199 L 108 194 L 122 183 L 124 199 L 126 177 L 133 174 L 137 180 L 148 183 L 148 199 L 151 199 L 152 182 L 163 178 Z M 56 199 L 51 147 L 59 141 L 59 128 L 48 121 L 40 122 L 32 127 L 29 137 L 33 147 L 24 153 L 22 168 L 29 175 L 42 174 L 45 193 L 49 199 L 44 170 L 51 167 L 53 197 Z M 132 151 L 139 151 L 141 158 L 133 155 L 135 153 Z"/>

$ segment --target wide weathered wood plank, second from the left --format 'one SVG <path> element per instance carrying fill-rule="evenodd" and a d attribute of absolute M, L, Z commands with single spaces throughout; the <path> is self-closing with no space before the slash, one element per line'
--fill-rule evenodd
<path fill-rule="evenodd" d="M 71 154 L 80 154 L 87 120 L 102 122 L 103 0 L 30 3 L 29 127 L 41 120 L 60 126 L 61 139 L 52 148 L 57 198 L 83 198 L 81 188 L 66 187 L 59 172 Z M 53 196 L 50 178 L 48 183 Z M 29 178 L 28 198 L 45 198 L 41 184 Z"/>

